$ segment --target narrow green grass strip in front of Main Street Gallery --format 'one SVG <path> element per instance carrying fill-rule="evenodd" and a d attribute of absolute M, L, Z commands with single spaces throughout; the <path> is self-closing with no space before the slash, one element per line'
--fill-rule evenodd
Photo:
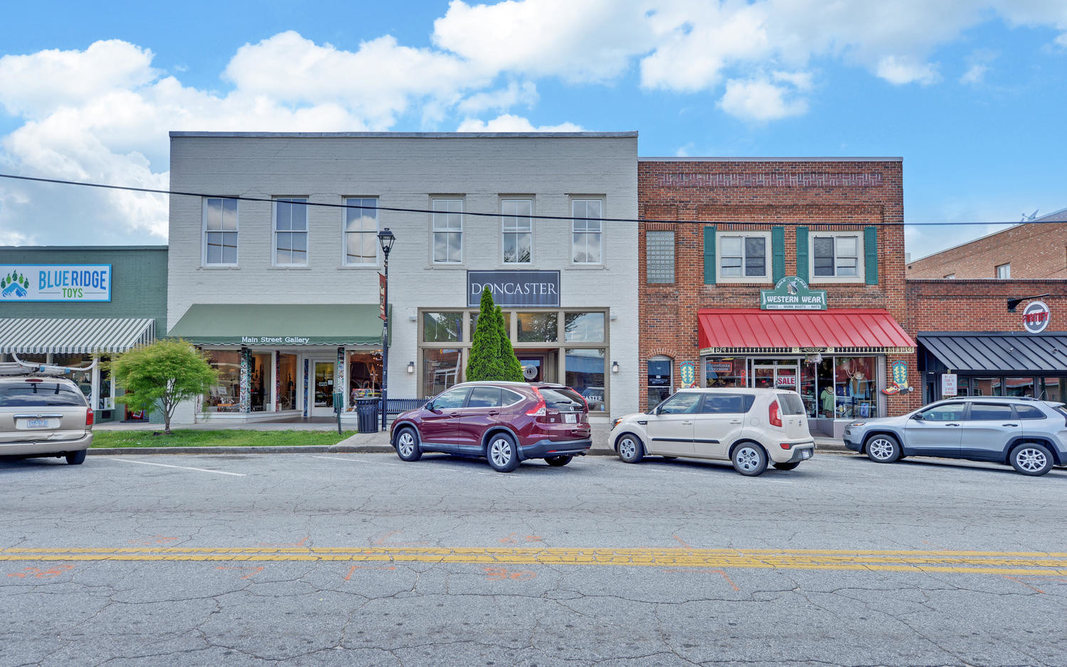
<path fill-rule="evenodd" d="M 335 445 L 355 431 L 248 431 L 228 429 L 202 431 L 175 429 L 158 431 L 93 431 L 93 447 L 292 447 Z"/>

